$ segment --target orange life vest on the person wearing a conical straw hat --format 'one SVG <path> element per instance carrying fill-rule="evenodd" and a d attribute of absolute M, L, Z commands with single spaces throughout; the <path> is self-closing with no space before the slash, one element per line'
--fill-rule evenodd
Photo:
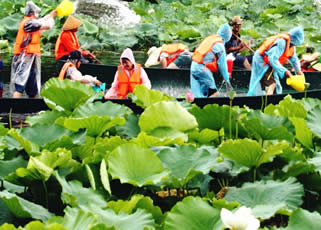
<path fill-rule="evenodd" d="M 72 47 L 66 47 L 64 43 L 64 39 L 62 37 L 64 36 L 64 39 L 71 40 Z M 56 60 L 60 59 L 61 57 L 65 55 L 69 55 L 72 50 L 79 50 L 80 45 L 78 42 L 78 38 L 76 36 L 75 32 L 71 31 L 62 31 L 57 39 L 56 45 L 55 45 L 55 56 Z"/>

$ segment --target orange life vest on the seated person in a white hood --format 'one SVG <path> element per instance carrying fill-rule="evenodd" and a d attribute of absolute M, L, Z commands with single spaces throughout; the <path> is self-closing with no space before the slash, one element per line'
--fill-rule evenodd
<path fill-rule="evenodd" d="M 132 74 L 128 77 L 122 65 L 119 65 L 118 68 L 118 99 L 123 99 L 127 97 L 128 93 L 134 92 L 134 89 L 137 85 L 142 84 L 140 77 L 141 74 L 141 65 L 136 63 L 135 69 Z"/>

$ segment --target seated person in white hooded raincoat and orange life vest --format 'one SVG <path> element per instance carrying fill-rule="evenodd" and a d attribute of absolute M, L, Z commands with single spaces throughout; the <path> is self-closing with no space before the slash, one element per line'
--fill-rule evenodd
<path fill-rule="evenodd" d="M 112 86 L 104 98 L 127 98 L 128 93 L 134 92 L 135 87 L 141 84 L 151 89 L 151 83 L 145 70 L 135 62 L 133 51 L 126 48 L 120 56 L 120 65 L 117 67 Z"/>

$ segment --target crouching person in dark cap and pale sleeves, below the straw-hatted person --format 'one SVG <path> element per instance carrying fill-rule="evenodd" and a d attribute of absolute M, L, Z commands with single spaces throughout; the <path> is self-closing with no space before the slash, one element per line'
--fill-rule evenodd
<path fill-rule="evenodd" d="M 82 75 L 78 70 L 81 65 L 81 52 L 79 50 L 74 50 L 70 52 L 66 63 L 61 68 L 58 78 L 64 80 L 66 78 L 72 81 L 79 81 L 87 85 L 100 86 L 101 82 L 97 80 L 96 77 L 90 75 Z"/>

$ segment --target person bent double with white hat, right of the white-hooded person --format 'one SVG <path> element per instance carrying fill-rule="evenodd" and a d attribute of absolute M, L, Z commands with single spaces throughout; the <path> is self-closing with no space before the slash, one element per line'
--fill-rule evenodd
<path fill-rule="evenodd" d="M 172 43 L 159 48 L 153 46 L 147 54 L 146 67 L 161 64 L 162 68 L 181 69 L 191 67 L 193 53 L 182 43 Z"/>

